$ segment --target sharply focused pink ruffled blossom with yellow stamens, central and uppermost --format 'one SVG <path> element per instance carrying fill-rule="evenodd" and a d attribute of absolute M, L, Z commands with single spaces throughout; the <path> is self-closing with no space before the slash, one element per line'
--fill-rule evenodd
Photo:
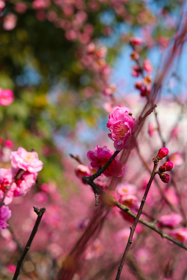
<path fill-rule="evenodd" d="M 135 132 L 137 125 L 128 107 L 117 106 L 108 117 L 107 127 L 111 132 L 108 136 L 114 141 L 115 149 L 121 150 L 130 146 L 132 133 Z"/>

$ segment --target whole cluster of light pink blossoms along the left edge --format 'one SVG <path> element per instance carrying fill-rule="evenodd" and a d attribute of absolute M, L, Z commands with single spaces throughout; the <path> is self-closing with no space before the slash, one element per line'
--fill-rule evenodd
<path fill-rule="evenodd" d="M 4 204 L 10 204 L 13 197 L 25 195 L 27 190 L 35 184 L 38 172 L 43 163 L 36 152 L 27 152 L 19 147 L 10 155 L 11 169 L 0 168 L 0 199 Z M 6 220 L 10 218 L 8 206 L 0 208 L 0 230 L 6 228 Z"/>

